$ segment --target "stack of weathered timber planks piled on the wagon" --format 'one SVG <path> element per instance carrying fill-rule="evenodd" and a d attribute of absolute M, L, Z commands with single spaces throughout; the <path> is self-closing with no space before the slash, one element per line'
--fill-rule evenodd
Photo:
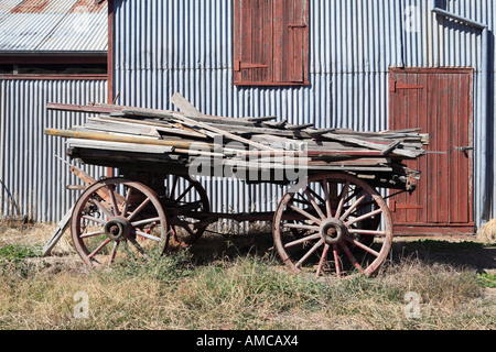
<path fill-rule="evenodd" d="M 420 173 L 405 163 L 424 155 L 423 146 L 429 144 L 429 136 L 417 129 L 316 129 L 313 124 L 278 121 L 276 117 L 205 116 L 179 94 L 172 101 L 181 112 L 48 103 L 50 110 L 85 112 L 90 117 L 84 125 L 46 129 L 45 134 L 67 139 L 67 154 L 93 165 L 185 174 L 191 173 L 192 163 L 204 158 L 212 168 L 235 166 L 230 175 L 220 176 L 238 177 L 239 169 L 273 173 L 298 163 L 309 174 L 347 172 L 388 188 L 412 187 L 411 180 L 418 179 Z"/>

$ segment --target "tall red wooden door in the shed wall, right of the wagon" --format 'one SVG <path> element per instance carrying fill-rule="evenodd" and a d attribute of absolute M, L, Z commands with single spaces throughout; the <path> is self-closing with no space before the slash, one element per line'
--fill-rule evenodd
<path fill-rule="evenodd" d="M 473 234 L 473 70 L 407 68 L 390 72 L 390 129 L 429 133 L 412 194 L 390 199 L 397 234 Z"/>

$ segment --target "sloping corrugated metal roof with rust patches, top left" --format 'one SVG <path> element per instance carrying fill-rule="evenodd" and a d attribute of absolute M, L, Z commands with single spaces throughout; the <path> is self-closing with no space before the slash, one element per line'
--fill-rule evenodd
<path fill-rule="evenodd" d="M 0 2 L 0 54 L 106 52 L 107 37 L 106 1 Z"/>

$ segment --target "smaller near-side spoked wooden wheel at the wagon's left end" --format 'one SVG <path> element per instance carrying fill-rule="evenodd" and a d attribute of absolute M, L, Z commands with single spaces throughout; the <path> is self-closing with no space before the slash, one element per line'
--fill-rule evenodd
<path fill-rule="evenodd" d="M 123 178 L 108 178 L 87 188 L 74 206 L 71 233 L 83 261 L 98 267 L 134 252 L 162 254 L 168 243 L 165 213 L 157 194 Z"/>

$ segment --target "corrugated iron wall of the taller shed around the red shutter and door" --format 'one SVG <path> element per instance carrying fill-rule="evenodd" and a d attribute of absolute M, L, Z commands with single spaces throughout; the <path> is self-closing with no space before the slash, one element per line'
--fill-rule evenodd
<path fill-rule="evenodd" d="M 432 12 L 434 4 L 442 7 L 486 23 L 492 33 L 493 0 L 311 0 L 311 85 L 293 88 L 233 85 L 231 4 L 116 0 L 118 103 L 174 109 L 170 98 L 180 91 L 208 114 L 278 116 L 292 123 L 378 131 L 388 129 L 389 67 L 474 67 L 475 218 L 479 224 L 484 212 L 494 216 L 495 201 L 487 194 L 493 177 L 484 167 L 494 165 L 493 153 L 481 110 L 486 91 L 481 86 L 482 55 L 488 44 L 482 43 L 479 30 Z M 273 209 L 282 194 L 278 187 L 205 183 L 216 211 L 249 211 L 254 205 L 257 210 Z"/>

